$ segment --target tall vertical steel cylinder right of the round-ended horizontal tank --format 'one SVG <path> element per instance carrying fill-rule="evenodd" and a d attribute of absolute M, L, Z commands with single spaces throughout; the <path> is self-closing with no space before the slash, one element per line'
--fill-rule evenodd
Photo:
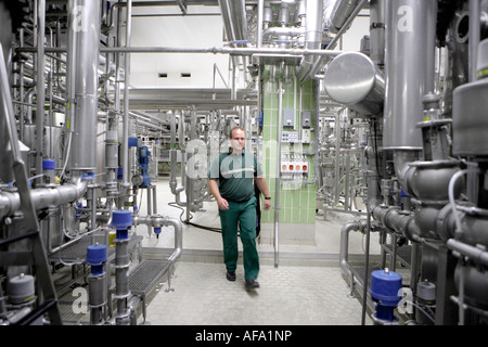
<path fill-rule="evenodd" d="M 384 149 L 422 150 L 422 97 L 434 91 L 436 0 L 386 2 Z"/>

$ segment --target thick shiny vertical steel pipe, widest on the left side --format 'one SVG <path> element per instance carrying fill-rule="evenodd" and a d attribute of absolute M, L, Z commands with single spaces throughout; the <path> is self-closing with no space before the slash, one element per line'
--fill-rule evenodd
<path fill-rule="evenodd" d="M 73 50 L 76 54 L 76 69 L 70 75 L 74 85 L 75 118 L 72 119 L 73 144 L 69 155 L 70 168 L 94 171 L 97 168 L 97 108 L 98 108 L 98 66 L 100 41 L 101 7 L 98 1 L 77 0 L 69 8 L 74 16 L 69 37 L 74 37 Z M 75 31 L 73 34 L 73 31 Z M 39 98 L 39 94 L 38 94 Z M 42 98 L 43 100 L 43 98 Z M 68 129 L 69 129 L 68 126 Z"/>

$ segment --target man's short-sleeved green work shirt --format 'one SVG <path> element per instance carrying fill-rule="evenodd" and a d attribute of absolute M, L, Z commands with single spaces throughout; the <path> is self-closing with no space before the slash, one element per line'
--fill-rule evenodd
<path fill-rule="evenodd" d="M 217 180 L 220 195 L 234 203 L 254 196 L 255 176 L 262 176 L 261 167 L 256 155 L 246 151 L 242 154 L 221 153 L 208 171 L 208 178 Z"/>

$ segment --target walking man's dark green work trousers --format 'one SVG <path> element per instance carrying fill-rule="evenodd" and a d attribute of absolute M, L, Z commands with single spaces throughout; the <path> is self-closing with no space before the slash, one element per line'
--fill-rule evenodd
<path fill-rule="evenodd" d="M 223 262 L 227 271 L 237 268 L 237 221 L 243 246 L 244 277 L 256 280 L 259 272 L 259 256 L 256 249 L 256 197 L 247 202 L 228 202 L 229 209 L 219 209 L 222 227 Z"/>

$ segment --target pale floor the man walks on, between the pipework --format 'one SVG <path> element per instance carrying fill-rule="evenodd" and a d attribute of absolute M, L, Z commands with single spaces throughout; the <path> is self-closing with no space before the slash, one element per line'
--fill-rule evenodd
<path fill-rule="evenodd" d="M 168 181 L 163 179 L 154 184 L 158 214 L 180 218 L 181 210 L 168 205 L 175 201 Z M 141 202 L 143 215 L 145 195 Z M 219 228 L 216 203 L 205 203 L 204 209 L 193 215 L 192 222 Z M 337 218 L 317 217 L 314 245 L 280 245 L 278 266 L 274 246 L 258 243 L 260 287 L 253 291 L 244 286 L 242 264 L 237 267 L 236 281 L 227 281 L 220 233 L 184 224 L 183 255 L 177 261 L 170 283 L 160 283 L 152 297 L 146 321 L 152 325 L 361 324 L 361 303 L 349 297 L 350 288 L 338 261 L 341 229 L 346 220 L 354 218 Z M 175 244 L 171 227 L 163 228 L 158 239 L 145 226 L 136 230 L 143 236 L 144 256 L 171 252 Z M 374 235 L 370 244 L 371 254 L 378 253 Z M 349 254 L 361 259 L 363 248 L 363 235 L 351 232 Z M 368 317 L 365 322 L 371 324 Z"/>

